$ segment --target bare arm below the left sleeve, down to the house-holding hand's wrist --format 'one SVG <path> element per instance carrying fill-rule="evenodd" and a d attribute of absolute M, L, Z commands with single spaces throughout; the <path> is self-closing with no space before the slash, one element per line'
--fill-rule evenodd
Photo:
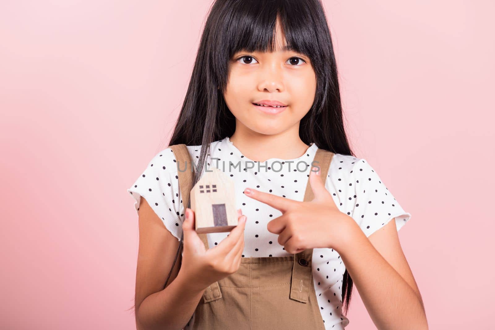
<path fill-rule="evenodd" d="M 138 330 L 183 329 L 198 306 L 204 289 L 193 288 L 178 275 L 180 252 L 163 289 L 178 248 L 177 238 L 141 198 L 135 296 Z"/>

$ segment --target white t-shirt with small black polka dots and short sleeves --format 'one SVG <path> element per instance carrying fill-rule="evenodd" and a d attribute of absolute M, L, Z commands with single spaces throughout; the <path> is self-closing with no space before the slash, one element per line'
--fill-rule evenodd
<path fill-rule="evenodd" d="M 187 146 L 187 148 L 192 160 L 197 164 L 201 146 Z M 278 235 L 270 233 L 266 228 L 270 220 L 282 213 L 246 196 L 243 191 L 251 187 L 302 201 L 311 162 L 317 149 L 317 145 L 313 143 L 299 158 L 292 160 L 271 158 L 260 163 L 242 155 L 228 137 L 211 143 L 210 156 L 207 157 L 209 168 L 217 167 L 231 177 L 235 183 L 236 209 L 241 208 L 243 214 L 247 216 L 243 257 L 291 255 L 278 244 Z M 232 167 L 229 171 L 230 162 L 234 165 L 240 163 L 241 166 Z M 180 166 L 183 170 L 184 164 Z M 204 172 L 204 167 L 202 171 Z M 398 231 L 411 217 L 411 214 L 405 212 L 397 203 L 365 159 L 335 154 L 325 187 L 340 211 L 351 216 L 366 237 L 385 226 L 393 218 L 396 219 Z M 177 163 L 170 148 L 155 155 L 127 191 L 135 199 L 134 207 L 138 213 L 140 198 L 143 196 L 162 219 L 165 227 L 180 240 L 184 210 L 187 206 L 182 203 Z M 209 247 L 213 248 L 220 243 L 227 234 L 229 233 L 207 234 Z M 342 314 L 342 283 L 346 267 L 339 253 L 331 248 L 314 248 L 312 270 L 316 297 L 326 329 L 344 329 L 349 323 Z M 193 324 L 194 315 L 185 329 L 191 329 Z"/>

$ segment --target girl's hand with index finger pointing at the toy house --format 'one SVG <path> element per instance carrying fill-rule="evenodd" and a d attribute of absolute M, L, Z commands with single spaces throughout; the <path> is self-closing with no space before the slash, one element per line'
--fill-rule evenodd
<path fill-rule="evenodd" d="M 287 252 L 295 254 L 307 248 L 334 248 L 339 251 L 350 233 L 349 226 L 356 223 L 335 205 L 321 179 L 319 168 L 318 172 L 310 171 L 309 185 L 314 194 L 310 202 L 298 202 L 252 188 L 245 189 L 244 193 L 282 212 L 281 216 L 268 222 L 267 229 L 279 234 L 278 243 Z"/>

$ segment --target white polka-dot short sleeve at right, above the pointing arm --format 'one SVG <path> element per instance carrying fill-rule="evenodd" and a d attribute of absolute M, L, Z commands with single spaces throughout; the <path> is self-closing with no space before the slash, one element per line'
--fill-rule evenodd
<path fill-rule="evenodd" d="M 396 219 L 397 231 L 411 218 L 365 159 L 359 159 L 353 165 L 349 184 L 354 185 L 354 189 L 349 190 L 354 191 L 349 198 L 354 200 L 351 216 L 366 237 L 393 218 Z"/>

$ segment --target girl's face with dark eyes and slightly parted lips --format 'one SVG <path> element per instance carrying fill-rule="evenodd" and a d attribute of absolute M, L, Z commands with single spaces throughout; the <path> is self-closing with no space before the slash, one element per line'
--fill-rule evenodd
<path fill-rule="evenodd" d="M 236 130 L 268 135 L 284 132 L 298 127 L 313 104 L 316 74 L 311 62 L 303 54 L 283 49 L 286 41 L 281 31 L 277 20 L 275 52 L 239 51 L 230 61 L 224 98 L 236 117 Z M 253 104 L 262 100 L 279 101 L 286 107 L 260 108 Z"/>

